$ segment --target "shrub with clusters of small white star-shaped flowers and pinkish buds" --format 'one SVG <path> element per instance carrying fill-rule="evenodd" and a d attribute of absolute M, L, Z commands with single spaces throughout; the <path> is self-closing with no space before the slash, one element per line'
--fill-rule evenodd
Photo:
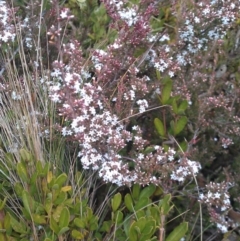
<path fill-rule="evenodd" d="M 3 76 L 3 89 L 21 103 L 41 86 L 64 120 L 54 126 L 78 143 L 83 169 L 117 186 L 153 183 L 170 192 L 239 144 L 239 1 L 46 2 L 17 6 L 22 16 L 0 2 L 1 44 L 12 62 L 21 49 L 29 64 L 18 67 L 21 87 Z M 210 212 L 231 208 L 222 185 L 200 196 Z M 229 226 L 220 219 L 213 221 Z"/>

